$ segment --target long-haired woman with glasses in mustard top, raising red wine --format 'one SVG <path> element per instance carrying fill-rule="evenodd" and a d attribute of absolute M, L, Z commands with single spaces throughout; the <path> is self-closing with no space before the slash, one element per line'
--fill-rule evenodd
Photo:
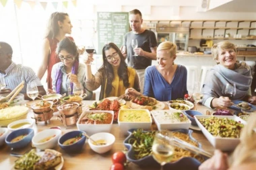
<path fill-rule="evenodd" d="M 84 60 L 88 89 L 93 91 L 101 86 L 100 99 L 123 95 L 129 87 L 140 91 L 137 73 L 131 67 L 127 67 L 123 54 L 113 42 L 103 47 L 102 58 L 103 65 L 95 75 L 92 75 L 90 66 L 93 54 L 88 54 L 88 59 Z"/>

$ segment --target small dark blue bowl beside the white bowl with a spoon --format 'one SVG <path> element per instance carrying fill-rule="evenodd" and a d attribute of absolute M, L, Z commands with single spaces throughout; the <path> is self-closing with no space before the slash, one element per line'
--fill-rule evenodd
<path fill-rule="evenodd" d="M 63 136 L 61 136 L 59 138 L 59 146 L 61 146 L 61 148 L 63 148 L 63 150 L 66 153 L 78 153 L 80 151 L 82 151 L 82 147 L 84 146 L 84 143 L 86 142 L 86 136 L 82 135 L 82 138 L 80 140 L 78 140 L 77 142 L 73 143 L 73 144 L 69 144 L 69 145 L 64 145 L 63 143 L 70 139 L 70 138 L 75 138 L 76 136 L 79 136 L 80 134 L 85 133 L 84 131 L 80 131 L 80 130 L 74 130 L 71 132 L 67 132 L 66 134 L 63 134 Z"/>

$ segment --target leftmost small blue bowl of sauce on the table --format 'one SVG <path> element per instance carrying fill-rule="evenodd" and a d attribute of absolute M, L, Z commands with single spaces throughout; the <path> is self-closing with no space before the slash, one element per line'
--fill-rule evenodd
<path fill-rule="evenodd" d="M 22 138 L 22 140 L 19 140 L 18 142 L 11 142 L 13 138 L 16 138 L 24 134 L 27 134 L 27 136 Z M 23 148 L 24 146 L 27 146 L 31 142 L 33 136 L 34 130 L 32 128 L 14 130 L 5 138 L 5 142 L 11 148 Z"/>

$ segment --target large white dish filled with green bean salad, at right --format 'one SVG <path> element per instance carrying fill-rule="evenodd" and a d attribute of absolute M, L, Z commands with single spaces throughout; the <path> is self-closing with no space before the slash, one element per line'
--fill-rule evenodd
<path fill-rule="evenodd" d="M 237 116 L 195 116 L 195 121 L 209 142 L 222 151 L 232 151 L 240 142 L 245 120 Z"/>

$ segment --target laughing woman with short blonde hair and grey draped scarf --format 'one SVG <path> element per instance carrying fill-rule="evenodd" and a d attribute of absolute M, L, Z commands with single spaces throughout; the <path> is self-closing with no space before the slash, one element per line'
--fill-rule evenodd
<path fill-rule="evenodd" d="M 230 42 L 219 42 L 212 46 L 212 54 L 217 65 L 207 73 L 202 103 L 209 108 L 226 108 L 232 105 L 231 99 L 256 104 L 256 96 L 251 96 L 251 69 L 245 62 L 236 61 L 236 46 Z M 223 97 L 222 89 L 226 83 L 236 85 L 233 97 Z"/>

